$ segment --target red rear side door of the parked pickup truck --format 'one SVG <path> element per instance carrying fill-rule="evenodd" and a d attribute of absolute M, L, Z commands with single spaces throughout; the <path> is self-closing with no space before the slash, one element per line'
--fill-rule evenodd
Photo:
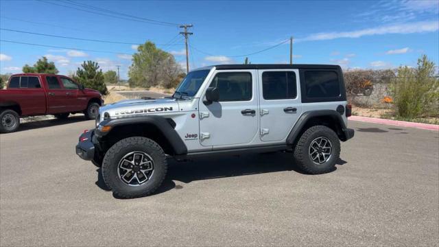
<path fill-rule="evenodd" d="M 67 107 L 69 102 L 69 91 L 62 87 L 56 75 L 46 75 L 47 89 L 47 113 L 68 113 L 70 108 Z"/>

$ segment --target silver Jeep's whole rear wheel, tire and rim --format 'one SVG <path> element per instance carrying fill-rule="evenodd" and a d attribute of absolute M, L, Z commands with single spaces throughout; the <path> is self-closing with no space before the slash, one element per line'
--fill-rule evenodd
<path fill-rule="evenodd" d="M 340 157 L 340 140 L 327 126 L 307 129 L 294 147 L 296 164 L 307 174 L 324 174 L 333 171 Z"/>

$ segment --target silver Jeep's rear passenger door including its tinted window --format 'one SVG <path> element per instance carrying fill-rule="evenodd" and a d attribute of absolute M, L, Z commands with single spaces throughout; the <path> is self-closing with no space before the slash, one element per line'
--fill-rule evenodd
<path fill-rule="evenodd" d="M 297 69 L 259 69 L 261 141 L 282 141 L 298 120 L 300 84 Z"/>

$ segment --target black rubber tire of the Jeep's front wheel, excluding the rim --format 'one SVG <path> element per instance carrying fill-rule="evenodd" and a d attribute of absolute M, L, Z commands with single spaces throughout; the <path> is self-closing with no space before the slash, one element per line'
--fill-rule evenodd
<path fill-rule="evenodd" d="M 117 169 L 119 161 L 130 152 L 145 152 L 154 161 L 154 171 L 147 182 L 139 186 L 123 183 Z M 112 189 L 117 198 L 138 198 L 154 193 L 163 183 L 167 173 L 165 152 L 155 141 L 145 137 L 129 137 L 118 141 L 106 152 L 102 162 L 102 176 L 106 186 Z"/>

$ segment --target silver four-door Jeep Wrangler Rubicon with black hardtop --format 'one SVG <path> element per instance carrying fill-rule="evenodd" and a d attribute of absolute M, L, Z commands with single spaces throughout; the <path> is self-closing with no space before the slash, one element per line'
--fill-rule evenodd
<path fill-rule="evenodd" d="M 154 193 L 167 156 L 289 151 L 304 172 L 322 174 L 354 135 L 350 115 L 339 66 L 217 65 L 188 73 L 172 97 L 102 106 L 76 154 L 102 165 L 120 198 Z"/>

